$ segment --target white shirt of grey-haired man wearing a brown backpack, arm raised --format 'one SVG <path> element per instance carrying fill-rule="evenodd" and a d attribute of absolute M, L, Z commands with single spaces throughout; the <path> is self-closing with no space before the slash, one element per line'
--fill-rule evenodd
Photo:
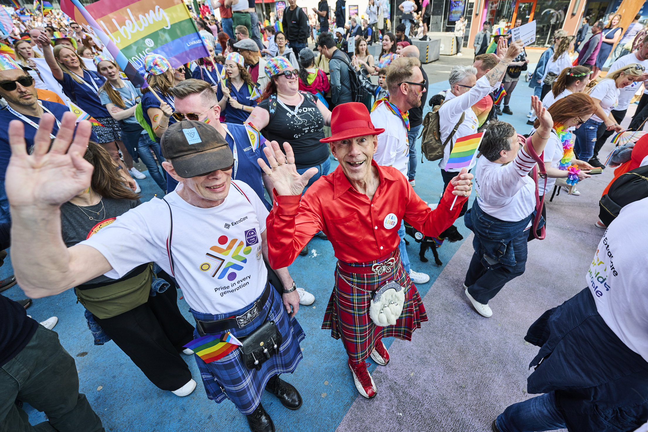
<path fill-rule="evenodd" d="M 495 87 L 491 87 L 489 80 L 486 76 L 482 76 L 477 80 L 472 89 L 463 93 L 463 95 L 454 96 L 450 91 L 446 94 L 446 99 L 439 108 L 439 129 L 441 130 L 441 142 L 445 142 L 448 138 L 448 135 L 452 133 L 454 126 L 457 124 L 459 119 L 461 119 L 461 113 L 465 113 L 463 118 L 463 123 L 459 125 L 457 131 L 452 135 L 452 139 L 448 141 L 448 145 L 445 146 L 443 150 L 443 159 L 439 161 L 439 168 L 445 170 L 446 163 L 448 163 L 448 158 L 450 157 L 450 142 L 454 146 L 454 142 L 457 141 L 457 138 L 465 137 L 466 135 L 472 135 L 477 132 L 479 128 L 479 120 L 472 111 L 472 106 L 479 102 L 481 98 L 485 97 Z M 500 88 L 500 84 L 496 84 L 496 88 Z M 375 124 L 375 123 L 374 123 Z M 380 137 L 380 135 L 378 135 Z M 472 168 L 473 165 L 470 166 Z M 470 169 L 469 168 L 469 169 Z M 448 172 L 459 172 L 461 171 L 458 168 L 450 168 Z"/>

